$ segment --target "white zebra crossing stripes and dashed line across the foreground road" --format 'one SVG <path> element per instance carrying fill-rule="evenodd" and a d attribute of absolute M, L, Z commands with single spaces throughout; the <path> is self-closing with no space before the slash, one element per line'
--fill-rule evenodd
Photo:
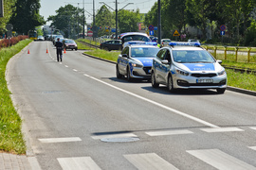
<path fill-rule="evenodd" d="M 256 130 L 256 127 L 249 127 L 248 129 Z M 243 132 L 245 131 L 242 128 L 237 127 L 219 127 L 219 128 L 202 128 L 200 129 L 207 133 L 212 132 Z M 155 131 L 145 131 L 150 137 L 155 136 L 166 136 L 166 135 L 192 135 L 193 132 L 187 129 L 181 130 L 155 130 Z M 118 133 L 118 134 L 101 134 L 91 136 L 93 140 L 101 140 L 105 138 L 135 138 L 137 134 L 134 133 Z M 78 137 L 72 138 L 40 138 L 38 139 L 41 143 L 64 143 L 64 142 L 81 142 L 82 140 Z M 256 146 L 245 146 L 248 149 L 251 149 L 253 152 L 256 152 Z M 229 153 L 218 149 L 218 148 L 209 148 L 209 149 L 192 149 L 184 150 L 182 153 L 187 157 L 192 157 L 197 160 L 197 163 L 205 163 L 209 166 L 209 169 L 215 168 L 220 170 L 256 170 L 256 167 L 252 164 L 249 164 L 246 161 L 241 161 L 238 158 L 229 155 Z M 161 154 L 161 153 L 158 153 Z M 157 153 L 131 153 L 123 154 L 122 157 L 125 161 L 129 162 L 134 166 L 134 169 L 138 170 L 178 170 L 184 169 L 181 164 L 176 164 L 177 162 L 170 162 L 166 158 L 161 158 Z M 174 157 L 178 157 L 174 156 Z M 106 160 L 109 158 L 106 158 Z M 182 158 L 181 158 L 182 159 Z M 92 159 L 89 156 L 84 157 L 65 157 L 57 158 L 60 166 L 63 170 L 101 170 L 96 159 Z M 191 162 L 193 163 L 193 162 Z M 101 163 L 102 164 L 102 163 Z M 212 167 L 212 168 L 210 168 Z M 187 169 L 187 168 L 185 168 Z"/>

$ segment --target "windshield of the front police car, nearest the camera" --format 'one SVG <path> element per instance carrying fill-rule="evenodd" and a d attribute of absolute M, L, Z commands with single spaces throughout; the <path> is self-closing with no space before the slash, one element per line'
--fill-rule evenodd
<path fill-rule="evenodd" d="M 203 50 L 174 50 L 173 55 L 174 61 L 180 63 L 215 62 L 215 60 L 210 56 L 210 54 L 207 51 Z"/>

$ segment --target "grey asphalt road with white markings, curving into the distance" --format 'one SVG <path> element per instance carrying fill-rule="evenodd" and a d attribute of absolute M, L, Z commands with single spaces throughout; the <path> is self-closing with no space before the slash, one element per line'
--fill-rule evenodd
<path fill-rule="evenodd" d="M 255 96 L 169 93 L 82 51 L 57 62 L 51 42 L 28 49 L 9 61 L 8 83 L 43 170 L 256 169 Z"/>

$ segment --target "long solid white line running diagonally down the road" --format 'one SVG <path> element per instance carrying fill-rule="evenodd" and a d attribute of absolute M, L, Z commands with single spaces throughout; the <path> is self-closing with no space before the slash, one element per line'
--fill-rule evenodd
<path fill-rule="evenodd" d="M 88 76 L 88 75 L 86 75 L 86 74 L 83 74 L 83 75 L 84 75 L 84 76 Z M 198 123 L 200 123 L 200 124 L 203 124 L 203 125 L 205 125 L 205 126 L 208 126 L 208 127 L 215 127 L 215 128 L 218 127 L 218 126 L 215 126 L 215 125 L 213 125 L 213 124 L 210 124 L 209 122 L 206 122 L 206 121 L 204 121 L 204 120 L 202 120 L 202 119 L 193 117 L 192 115 L 189 115 L 189 114 L 187 114 L 187 113 L 185 113 L 185 112 L 182 112 L 182 111 L 179 111 L 179 110 L 174 110 L 173 108 L 167 107 L 167 106 L 162 105 L 162 104 L 160 104 L 160 103 L 157 103 L 157 102 L 155 102 L 155 101 L 153 101 L 153 100 L 150 100 L 150 99 L 148 99 L 148 98 L 145 98 L 145 97 L 142 97 L 142 96 L 140 96 L 140 95 L 137 95 L 136 93 L 131 93 L 131 92 L 125 91 L 125 90 L 123 90 L 123 89 L 120 89 L 119 87 L 114 86 L 114 85 L 112 85 L 112 84 L 109 84 L 109 83 L 107 83 L 107 82 L 104 82 L 104 81 L 102 81 L 101 79 L 98 79 L 98 78 L 96 78 L 96 77 L 93 77 L 93 76 L 88 76 L 88 77 L 90 77 L 90 78 L 92 78 L 92 79 L 94 79 L 94 80 L 96 80 L 96 81 L 99 81 L 99 82 L 101 82 L 101 83 L 103 83 L 103 84 L 105 84 L 105 85 L 107 85 L 107 86 L 109 86 L 109 87 L 112 87 L 112 88 L 114 88 L 114 89 L 116 89 L 116 90 L 119 90 L 119 91 L 121 91 L 121 92 L 123 92 L 123 93 L 128 93 L 128 94 L 130 94 L 130 95 L 133 95 L 133 96 L 135 96 L 135 97 L 137 97 L 137 98 L 139 98 L 139 99 L 141 99 L 141 100 L 147 101 L 147 102 L 149 102 L 149 103 L 151 103 L 151 104 L 154 104 L 155 106 L 158 106 L 158 107 L 163 108 L 163 109 L 165 109 L 165 110 L 170 110 L 170 111 L 172 111 L 172 112 L 174 112 L 174 113 L 176 113 L 176 114 L 178 114 L 178 115 L 181 115 L 181 116 L 183 116 L 183 117 L 189 118 L 189 119 L 191 119 L 191 120 L 193 120 L 193 121 L 195 121 L 195 122 L 198 122 Z"/>

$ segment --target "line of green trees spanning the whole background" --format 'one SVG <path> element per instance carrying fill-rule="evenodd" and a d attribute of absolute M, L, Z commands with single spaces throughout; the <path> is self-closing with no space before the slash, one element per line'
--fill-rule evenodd
<path fill-rule="evenodd" d="M 12 24 L 19 34 L 27 34 L 29 29 L 42 26 L 46 21 L 51 21 L 51 26 L 62 30 L 65 35 L 78 35 L 82 32 L 82 25 L 85 23 L 82 8 L 66 5 L 57 9 L 57 14 L 49 16 L 45 21 L 39 14 L 40 7 L 40 0 L 4 0 L 5 16 L 0 18 L 0 34 L 6 31 L 7 24 Z M 119 10 L 119 33 L 138 31 L 138 23 L 157 26 L 157 7 L 155 2 L 145 14 L 141 14 L 139 9 Z M 193 26 L 200 30 L 197 38 L 201 41 L 219 42 L 220 26 L 225 25 L 227 29 L 224 42 L 255 46 L 255 7 L 256 0 L 161 0 L 162 38 L 174 39 L 174 30 L 191 38 L 193 35 L 190 35 L 188 27 Z M 99 36 L 111 34 L 111 28 L 116 27 L 115 11 L 105 5 L 101 6 L 95 16 L 95 23 L 91 26 L 99 28 Z"/>

